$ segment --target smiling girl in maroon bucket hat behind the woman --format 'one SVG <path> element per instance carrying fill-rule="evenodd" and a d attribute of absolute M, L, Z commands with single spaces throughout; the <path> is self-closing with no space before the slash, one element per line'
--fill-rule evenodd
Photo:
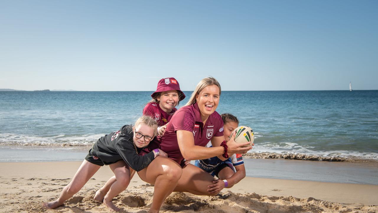
<path fill-rule="evenodd" d="M 177 110 L 175 107 L 185 98 L 180 90 L 180 84 L 175 78 L 162 78 L 156 91 L 151 94 L 152 100 L 143 109 L 144 115 L 149 115 L 158 122 L 158 133 L 163 135 L 167 123 Z"/>

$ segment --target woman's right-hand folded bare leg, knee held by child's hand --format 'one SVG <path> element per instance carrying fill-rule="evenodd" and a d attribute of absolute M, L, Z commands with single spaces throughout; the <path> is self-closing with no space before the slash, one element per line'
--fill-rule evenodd
<path fill-rule="evenodd" d="M 214 180 L 214 177 L 208 172 L 203 171 L 197 166 L 188 164 L 183 169 L 183 174 L 181 175 L 180 180 L 178 180 L 177 187 L 174 191 L 190 192 L 197 195 L 216 196 L 218 192 L 209 193 L 207 191 L 209 189 L 208 186 L 214 184 Z"/>

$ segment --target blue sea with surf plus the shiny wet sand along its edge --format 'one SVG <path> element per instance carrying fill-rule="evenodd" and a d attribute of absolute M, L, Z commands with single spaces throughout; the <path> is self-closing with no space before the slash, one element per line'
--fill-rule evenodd
<path fill-rule="evenodd" d="M 151 93 L 1 91 L 0 162 L 82 161 L 98 138 L 133 124 Z M 378 184 L 377 90 L 223 91 L 217 112 L 253 128 L 253 158 L 318 161 L 245 158 L 248 176 Z"/>

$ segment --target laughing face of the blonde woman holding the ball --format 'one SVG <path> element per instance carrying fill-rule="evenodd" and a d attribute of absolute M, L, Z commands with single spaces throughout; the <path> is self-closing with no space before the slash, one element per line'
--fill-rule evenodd
<path fill-rule="evenodd" d="M 217 85 L 209 85 L 203 88 L 196 97 L 202 121 L 215 112 L 219 104 L 219 88 Z"/>

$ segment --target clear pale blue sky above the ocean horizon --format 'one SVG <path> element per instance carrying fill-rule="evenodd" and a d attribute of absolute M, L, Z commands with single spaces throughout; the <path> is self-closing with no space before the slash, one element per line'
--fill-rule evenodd
<path fill-rule="evenodd" d="M 0 88 L 378 89 L 378 1 L 0 0 Z"/>

